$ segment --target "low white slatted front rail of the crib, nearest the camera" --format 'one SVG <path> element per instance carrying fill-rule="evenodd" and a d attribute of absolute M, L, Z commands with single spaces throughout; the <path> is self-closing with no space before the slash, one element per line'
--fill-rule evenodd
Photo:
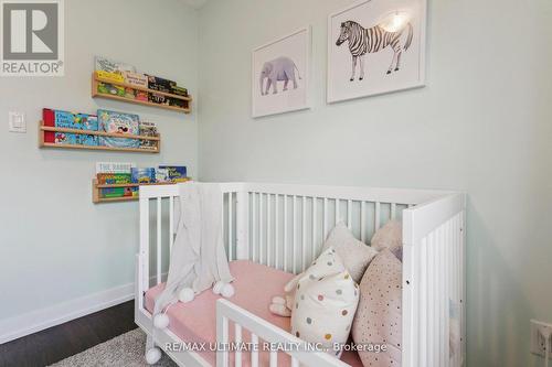
<path fill-rule="evenodd" d="M 233 323 L 234 335 L 230 332 L 231 323 Z M 248 334 L 246 337 L 245 333 Z M 216 367 L 241 367 L 242 365 L 276 367 L 283 365 L 283 361 L 278 363 L 278 358 L 282 358 L 284 354 L 290 357 L 289 366 L 291 367 L 300 365 L 348 366 L 323 352 L 309 350 L 304 341 L 226 300 L 216 302 L 216 342 L 220 346 L 248 344 L 247 353 L 242 353 L 241 348 L 234 348 L 234 350 L 222 348 L 224 350 L 217 352 Z M 268 345 L 272 345 L 272 348 L 267 347 Z M 278 348 L 285 350 L 278 352 Z M 265 349 L 269 354 L 267 364 L 261 360 L 259 356 Z"/>

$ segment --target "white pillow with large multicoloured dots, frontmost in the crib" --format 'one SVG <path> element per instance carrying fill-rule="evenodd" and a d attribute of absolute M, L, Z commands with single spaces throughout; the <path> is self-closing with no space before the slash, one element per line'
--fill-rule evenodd
<path fill-rule="evenodd" d="M 291 333 L 321 343 L 339 357 L 333 343 L 347 343 L 359 302 L 357 283 L 333 248 L 325 250 L 297 283 Z"/>

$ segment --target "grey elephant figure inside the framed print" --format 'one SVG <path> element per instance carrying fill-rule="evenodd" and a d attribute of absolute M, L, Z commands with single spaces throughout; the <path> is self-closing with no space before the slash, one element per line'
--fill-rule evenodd
<path fill-rule="evenodd" d="M 287 90 L 287 84 L 289 80 L 294 82 L 294 89 L 297 89 L 297 79 L 295 77 L 295 71 L 297 69 L 297 77 L 300 79 L 299 69 L 295 65 L 294 61 L 289 57 L 278 57 L 273 61 L 266 62 L 261 69 L 261 76 L 258 78 L 261 85 L 261 95 L 266 96 L 270 86 L 273 87 L 273 94 L 278 93 L 278 82 L 284 80 L 284 90 Z M 265 78 L 266 89 L 263 89 L 263 84 Z"/>

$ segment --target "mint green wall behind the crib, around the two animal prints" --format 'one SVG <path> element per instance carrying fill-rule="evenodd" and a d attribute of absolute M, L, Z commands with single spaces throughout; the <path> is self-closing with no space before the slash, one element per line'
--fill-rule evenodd
<path fill-rule="evenodd" d="M 537 366 L 529 320 L 552 322 L 552 3 L 429 1 L 427 87 L 327 106 L 327 15 L 350 3 L 199 11 L 200 179 L 467 191 L 468 365 Z M 314 109 L 251 119 L 251 51 L 307 24 Z"/>

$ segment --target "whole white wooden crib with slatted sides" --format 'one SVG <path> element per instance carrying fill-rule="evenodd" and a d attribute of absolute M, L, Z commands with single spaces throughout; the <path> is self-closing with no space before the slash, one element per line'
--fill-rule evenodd
<path fill-rule="evenodd" d="M 317 257 L 333 225 L 344 220 L 367 242 L 391 218 L 403 222 L 403 367 L 459 367 L 465 359 L 465 223 L 466 195 L 457 192 L 318 186 L 264 183 L 223 183 L 223 233 L 230 260 L 248 259 L 288 272 L 302 271 Z M 145 292 L 163 280 L 174 239 L 177 185 L 140 187 L 140 251 L 136 268 L 136 323 L 150 333 L 151 316 Z M 168 219 L 168 224 L 166 223 Z M 163 235 L 164 234 L 164 235 Z M 164 265 L 164 266 L 163 266 Z M 150 270 L 153 274 L 150 278 Z M 460 353 L 449 357 L 449 312 L 459 304 Z M 217 343 L 234 341 L 247 330 L 252 341 L 301 343 L 294 335 L 231 301 L 216 304 Z M 180 343 L 169 330 L 155 343 Z M 193 341 L 184 341 L 193 342 Z M 242 356 L 235 352 L 235 366 Z M 286 352 L 287 353 L 287 352 Z M 180 366 L 209 366 L 193 352 L 167 354 Z M 230 352 L 217 352 L 216 365 L 229 366 Z M 291 366 L 348 366 L 323 353 L 294 350 Z M 251 354 L 251 365 L 258 359 Z M 277 354 L 272 353 L 270 366 Z"/>

